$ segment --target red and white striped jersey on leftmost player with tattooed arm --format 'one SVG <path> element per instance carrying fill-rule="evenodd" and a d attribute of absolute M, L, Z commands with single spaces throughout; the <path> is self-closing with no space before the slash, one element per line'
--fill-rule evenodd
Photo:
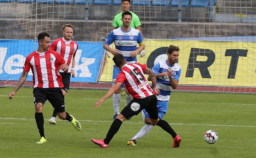
<path fill-rule="evenodd" d="M 65 61 L 53 50 L 42 53 L 34 51 L 26 58 L 23 70 L 29 72 L 31 68 L 34 88 L 63 87 L 62 78 L 58 72 L 62 64 L 65 64 Z"/>

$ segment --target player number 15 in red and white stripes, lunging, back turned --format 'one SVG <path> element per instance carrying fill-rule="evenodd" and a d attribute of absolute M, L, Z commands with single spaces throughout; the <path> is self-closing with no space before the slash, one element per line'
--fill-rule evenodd
<path fill-rule="evenodd" d="M 156 95 L 159 95 L 160 91 L 156 88 L 155 73 L 151 69 L 147 68 L 146 64 L 126 64 L 122 54 L 116 54 L 113 57 L 113 61 L 121 72 L 116 78 L 115 85 L 111 87 L 104 97 L 102 97 L 95 104 L 95 107 L 101 106 L 104 100 L 113 95 L 123 83 L 125 83 L 127 91 L 132 95 L 133 99 L 127 106 L 124 107 L 121 113 L 116 116 L 116 119 L 108 130 L 106 138 L 104 140 L 95 140 L 92 138 L 92 142 L 100 147 L 108 147 L 109 142 L 118 132 L 120 126 L 126 120 L 126 118 L 138 115 L 143 109 L 147 111 L 153 126 L 160 126 L 166 132 L 170 133 L 172 131 L 172 127 L 168 124 L 168 122 L 158 117 Z M 152 81 L 153 90 L 148 85 L 148 81 L 146 80 L 144 74 L 149 75 Z"/>

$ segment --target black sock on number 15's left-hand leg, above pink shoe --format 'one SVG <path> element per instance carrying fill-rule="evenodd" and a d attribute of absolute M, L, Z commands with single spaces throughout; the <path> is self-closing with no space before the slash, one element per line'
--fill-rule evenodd
<path fill-rule="evenodd" d="M 109 144 L 111 139 L 114 137 L 114 135 L 117 133 L 117 131 L 121 127 L 122 123 L 123 122 L 120 119 L 115 119 L 113 121 L 112 125 L 110 126 L 110 128 L 108 130 L 108 134 L 106 135 L 106 138 L 104 139 L 105 144 Z"/>

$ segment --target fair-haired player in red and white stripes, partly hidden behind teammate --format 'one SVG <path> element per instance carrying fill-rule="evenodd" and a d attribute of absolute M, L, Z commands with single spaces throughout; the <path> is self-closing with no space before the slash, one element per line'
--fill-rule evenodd
<path fill-rule="evenodd" d="M 64 72 L 62 69 L 59 70 L 60 75 L 62 76 L 62 83 L 63 87 L 61 88 L 62 93 L 65 95 L 68 92 L 69 85 L 70 85 L 70 76 L 76 76 L 75 73 L 75 55 L 78 49 L 78 44 L 71 40 L 73 32 L 74 32 L 74 25 L 66 24 L 62 26 L 62 33 L 63 37 L 54 40 L 50 46 L 51 50 L 58 52 L 62 59 L 65 60 L 65 63 L 68 65 L 68 72 Z M 49 123 L 52 125 L 56 125 L 56 116 L 57 113 L 53 110 L 52 117 L 49 119 Z"/>

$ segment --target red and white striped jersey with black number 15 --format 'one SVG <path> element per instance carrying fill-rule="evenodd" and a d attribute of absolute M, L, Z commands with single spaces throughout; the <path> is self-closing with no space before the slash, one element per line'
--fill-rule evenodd
<path fill-rule="evenodd" d="M 125 64 L 117 76 L 116 82 L 125 83 L 125 88 L 133 98 L 142 99 L 152 96 L 155 92 L 148 85 L 148 81 L 144 75 L 145 71 L 146 64 Z"/>

